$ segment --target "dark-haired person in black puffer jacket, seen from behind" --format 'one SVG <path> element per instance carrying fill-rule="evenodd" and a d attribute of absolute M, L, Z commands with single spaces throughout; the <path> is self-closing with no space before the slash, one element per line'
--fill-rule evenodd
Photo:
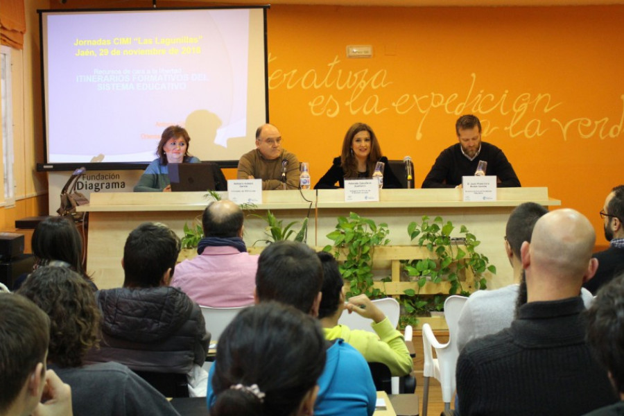
<path fill-rule="evenodd" d="M 206 391 L 209 335 L 198 304 L 169 286 L 180 239 L 166 225 L 143 223 L 130 232 L 121 264 L 123 288 L 98 291 L 102 342 L 86 363 L 116 361 L 141 372 L 188 374 L 189 395 Z M 202 390 L 203 389 L 203 390 Z"/>

